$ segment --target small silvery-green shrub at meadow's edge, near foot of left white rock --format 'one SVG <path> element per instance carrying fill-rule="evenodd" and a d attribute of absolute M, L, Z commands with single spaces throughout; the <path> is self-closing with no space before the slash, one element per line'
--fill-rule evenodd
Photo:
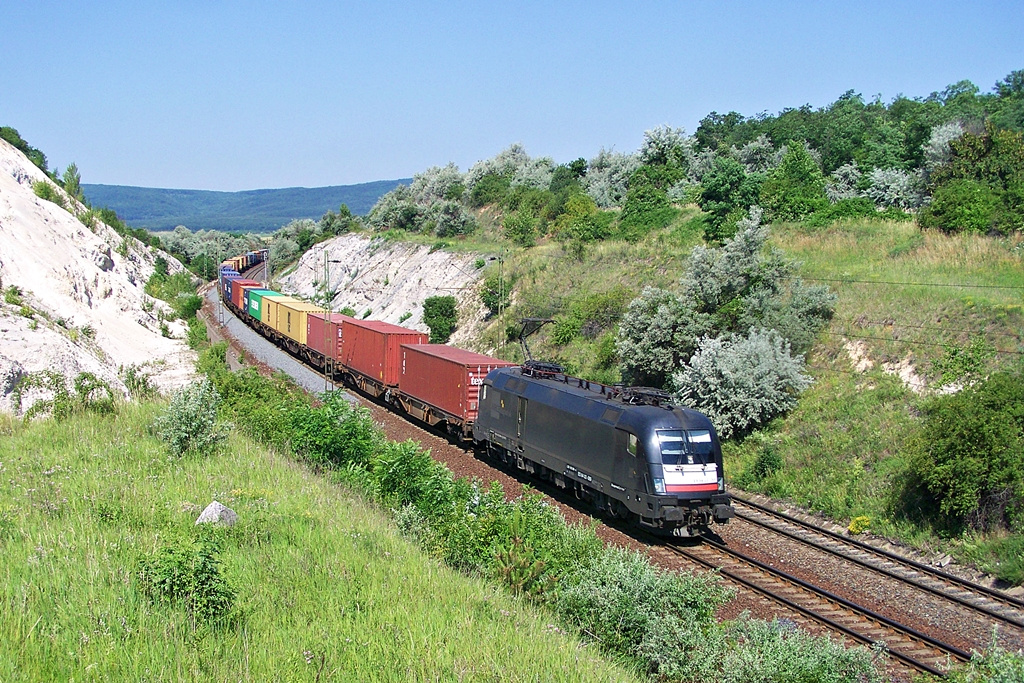
<path fill-rule="evenodd" d="M 208 378 L 174 392 L 155 425 L 172 455 L 209 455 L 227 437 L 225 426 L 217 423 L 220 400 Z"/>

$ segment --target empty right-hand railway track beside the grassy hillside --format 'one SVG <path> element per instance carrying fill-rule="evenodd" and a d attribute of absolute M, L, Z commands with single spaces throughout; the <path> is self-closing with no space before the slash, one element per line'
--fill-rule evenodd
<path fill-rule="evenodd" d="M 1024 600 L 922 562 L 797 519 L 738 496 L 736 517 L 810 548 L 835 555 L 888 579 L 975 612 L 993 624 L 1024 631 Z"/>

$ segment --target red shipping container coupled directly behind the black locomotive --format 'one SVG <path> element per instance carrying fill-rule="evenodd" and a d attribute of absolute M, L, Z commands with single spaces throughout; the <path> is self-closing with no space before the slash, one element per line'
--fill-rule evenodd
<path fill-rule="evenodd" d="M 402 346 L 401 351 L 398 391 L 454 415 L 463 424 L 476 420 L 487 373 L 519 365 L 444 344 Z"/>

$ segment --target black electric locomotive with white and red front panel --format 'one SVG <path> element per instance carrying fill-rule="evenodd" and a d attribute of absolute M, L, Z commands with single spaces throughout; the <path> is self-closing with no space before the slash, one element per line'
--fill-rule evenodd
<path fill-rule="evenodd" d="M 490 372 L 475 440 L 488 455 L 656 533 L 733 516 L 711 421 L 656 389 L 608 387 L 527 361 Z"/>

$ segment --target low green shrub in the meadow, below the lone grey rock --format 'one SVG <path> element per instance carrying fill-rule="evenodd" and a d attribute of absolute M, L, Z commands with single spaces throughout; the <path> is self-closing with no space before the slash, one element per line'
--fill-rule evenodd
<path fill-rule="evenodd" d="M 223 622 L 236 592 L 224 577 L 220 550 L 212 533 L 164 545 L 139 560 L 140 587 L 155 601 L 183 606 L 194 624 Z"/>

